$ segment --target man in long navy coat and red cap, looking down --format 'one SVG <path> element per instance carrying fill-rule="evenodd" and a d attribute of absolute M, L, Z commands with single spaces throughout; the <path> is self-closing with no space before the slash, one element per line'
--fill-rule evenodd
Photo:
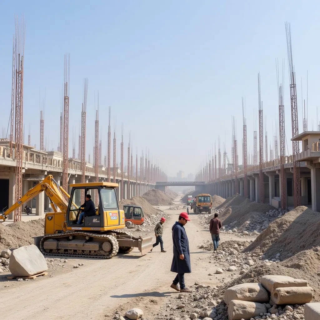
<path fill-rule="evenodd" d="M 184 274 L 191 272 L 189 241 L 184 226 L 190 221 L 187 212 L 181 212 L 172 227 L 173 258 L 171 272 L 177 273 L 171 288 L 180 292 L 192 292 L 184 284 Z M 180 288 L 178 287 L 180 284 Z"/>

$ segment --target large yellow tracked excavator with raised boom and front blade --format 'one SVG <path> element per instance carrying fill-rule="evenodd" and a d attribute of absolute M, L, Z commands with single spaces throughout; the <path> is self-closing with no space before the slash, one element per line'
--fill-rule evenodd
<path fill-rule="evenodd" d="M 43 254 L 109 259 L 118 252 L 128 253 L 134 247 L 141 254 L 150 251 L 152 236 L 134 237 L 123 230 L 124 211 L 119 209 L 117 183 L 76 183 L 70 187 L 71 195 L 59 186 L 52 175 L 48 175 L 2 213 L 0 220 L 8 219 L 9 213 L 45 192 L 53 212 L 45 214 L 44 236 L 34 238 Z M 94 202 L 96 213 L 92 216 L 84 215 L 83 221 L 78 221 L 88 194 Z"/>

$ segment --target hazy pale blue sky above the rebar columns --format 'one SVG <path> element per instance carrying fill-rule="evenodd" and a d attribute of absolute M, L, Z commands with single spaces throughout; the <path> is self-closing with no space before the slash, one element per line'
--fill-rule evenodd
<path fill-rule="evenodd" d="M 241 97 L 246 99 L 248 151 L 253 149 L 258 109 L 257 73 L 269 143 L 278 119 L 275 59 L 287 57 L 284 21 L 292 24 L 299 132 L 302 131 L 301 77 L 308 129 L 316 130 L 319 88 L 318 1 L 14 1 L 0 8 L 0 129 L 11 106 L 14 14 L 25 15 L 24 124 L 26 142 L 39 142 L 39 90 L 46 90 L 44 136 L 57 149 L 63 57 L 70 52 L 70 148 L 78 146 L 83 78 L 89 78 L 87 154 L 94 139 L 94 92 L 100 96 L 105 154 L 108 106 L 113 132 L 121 123 L 134 150 L 146 148 L 169 175 L 195 173 L 220 135 L 231 158 L 231 116 L 242 139 Z M 288 67 L 285 64 L 286 137 L 291 138 Z M 274 129 L 273 129 L 274 128 Z M 291 142 L 288 145 L 292 153 Z M 239 159 L 242 150 L 238 148 Z M 126 151 L 124 152 L 126 154 Z M 134 156 L 135 158 L 135 156 Z M 239 161 L 240 163 L 242 161 Z"/>

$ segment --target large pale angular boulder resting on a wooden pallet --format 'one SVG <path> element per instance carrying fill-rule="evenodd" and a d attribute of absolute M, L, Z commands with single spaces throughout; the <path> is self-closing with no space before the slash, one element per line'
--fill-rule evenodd
<path fill-rule="evenodd" d="M 12 251 L 9 270 L 12 276 L 28 277 L 48 270 L 48 266 L 40 250 L 31 244 Z"/>

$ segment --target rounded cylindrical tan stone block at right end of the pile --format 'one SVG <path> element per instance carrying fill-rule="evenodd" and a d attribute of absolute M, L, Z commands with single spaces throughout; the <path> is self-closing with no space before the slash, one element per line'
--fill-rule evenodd
<path fill-rule="evenodd" d="M 271 293 L 271 299 L 276 304 L 304 304 L 312 300 L 311 287 L 277 288 Z"/>

